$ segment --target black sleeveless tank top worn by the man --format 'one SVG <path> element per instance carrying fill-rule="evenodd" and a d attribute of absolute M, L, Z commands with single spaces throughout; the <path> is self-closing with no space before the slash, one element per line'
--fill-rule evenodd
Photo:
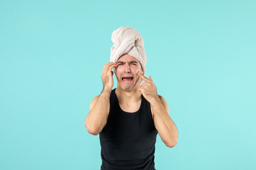
<path fill-rule="evenodd" d="M 108 120 L 99 133 L 101 170 L 155 170 L 155 128 L 150 103 L 141 96 L 139 110 L 125 112 L 113 89 Z"/>

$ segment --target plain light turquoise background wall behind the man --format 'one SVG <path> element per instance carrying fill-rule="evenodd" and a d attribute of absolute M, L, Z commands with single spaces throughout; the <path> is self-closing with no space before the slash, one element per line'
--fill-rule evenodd
<path fill-rule="evenodd" d="M 255 170 L 254 0 L 0 0 L 0 169 L 100 169 L 84 120 L 121 26 L 179 131 L 174 148 L 157 135 L 155 168 Z"/>

